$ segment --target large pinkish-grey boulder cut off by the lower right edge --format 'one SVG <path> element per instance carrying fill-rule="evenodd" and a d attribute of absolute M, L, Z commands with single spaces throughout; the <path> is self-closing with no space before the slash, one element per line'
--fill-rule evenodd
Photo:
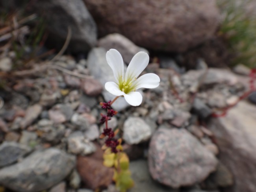
<path fill-rule="evenodd" d="M 226 116 L 212 118 L 208 128 L 219 146 L 220 161 L 234 175 L 230 192 L 256 191 L 256 107 L 240 101 Z"/>

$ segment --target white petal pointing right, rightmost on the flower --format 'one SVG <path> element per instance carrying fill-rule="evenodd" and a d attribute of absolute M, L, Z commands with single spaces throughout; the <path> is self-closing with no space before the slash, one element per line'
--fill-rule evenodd
<path fill-rule="evenodd" d="M 135 89 L 148 88 L 153 89 L 159 86 L 160 78 L 154 73 L 148 73 L 140 76 L 136 81 L 134 81 Z"/>

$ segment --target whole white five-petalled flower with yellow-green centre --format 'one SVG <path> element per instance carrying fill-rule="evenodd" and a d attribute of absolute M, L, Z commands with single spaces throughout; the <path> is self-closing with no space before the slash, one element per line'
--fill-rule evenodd
<path fill-rule="evenodd" d="M 115 96 L 123 96 L 132 106 L 138 106 L 142 102 L 142 95 L 136 91 L 137 89 L 156 88 L 160 83 L 160 78 L 153 73 L 145 74 L 137 79 L 148 65 L 149 57 L 145 52 L 138 52 L 134 55 L 125 75 L 124 62 L 117 50 L 110 49 L 106 54 L 106 59 L 113 70 L 115 82 L 107 82 L 105 89 Z"/>

